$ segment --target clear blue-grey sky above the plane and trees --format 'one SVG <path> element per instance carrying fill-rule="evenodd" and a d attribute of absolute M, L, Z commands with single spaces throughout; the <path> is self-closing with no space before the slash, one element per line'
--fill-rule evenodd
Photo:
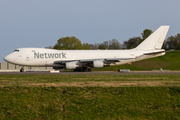
<path fill-rule="evenodd" d="M 1 0 L 0 62 L 21 47 L 47 47 L 61 37 L 121 43 L 170 25 L 180 33 L 180 0 Z"/>

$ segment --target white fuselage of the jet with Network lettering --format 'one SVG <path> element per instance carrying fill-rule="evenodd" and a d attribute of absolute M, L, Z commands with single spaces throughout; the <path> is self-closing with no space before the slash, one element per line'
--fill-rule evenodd
<path fill-rule="evenodd" d="M 162 51 L 162 50 L 158 50 Z M 53 50 L 44 48 L 19 48 L 15 52 L 7 55 L 4 60 L 20 66 L 62 66 L 54 64 L 55 61 L 79 61 L 88 59 L 113 59 L 130 58 L 120 60 L 110 65 L 120 65 L 135 62 L 142 59 L 164 55 L 146 55 L 144 53 L 157 52 L 157 50 Z M 140 57 L 142 56 L 142 57 Z"/>

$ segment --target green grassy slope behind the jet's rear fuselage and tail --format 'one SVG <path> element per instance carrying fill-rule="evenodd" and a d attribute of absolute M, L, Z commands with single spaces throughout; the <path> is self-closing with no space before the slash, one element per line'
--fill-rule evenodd
<path fill-rule="evenodd" d="M 94 68 L 93 71 L 112 71 L 115 69 L 130 70 L 180 70 L 180 51 L 167 52 L 164 56 L 134 62 L 132 64 Z"/>

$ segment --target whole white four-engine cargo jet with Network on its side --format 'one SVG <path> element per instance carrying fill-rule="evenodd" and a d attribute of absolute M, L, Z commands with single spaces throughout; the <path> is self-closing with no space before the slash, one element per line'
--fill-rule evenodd
<path fill-rule="evenodd" d="M 19 48 L 7 55 L 4 61 L 32 67 L 54 67 L 67 70 L 91 71 L 92 68 L 121 65 L 162 56 L 161 49 L 169 26 L 160 26 L 136 48 L 130 50 L 54 50 L 44 48 Z M 22 67 L 21 72 L 24 71 Z"/>

